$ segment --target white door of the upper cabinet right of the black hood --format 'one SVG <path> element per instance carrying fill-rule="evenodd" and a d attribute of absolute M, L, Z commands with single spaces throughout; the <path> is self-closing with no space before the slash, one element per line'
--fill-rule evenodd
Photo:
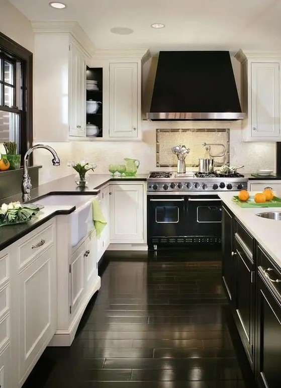
<path fill-rule="evenodd" d="M 251 64 L 252 137 L 276 137 L 280 129 L 279 64 Z"/>

